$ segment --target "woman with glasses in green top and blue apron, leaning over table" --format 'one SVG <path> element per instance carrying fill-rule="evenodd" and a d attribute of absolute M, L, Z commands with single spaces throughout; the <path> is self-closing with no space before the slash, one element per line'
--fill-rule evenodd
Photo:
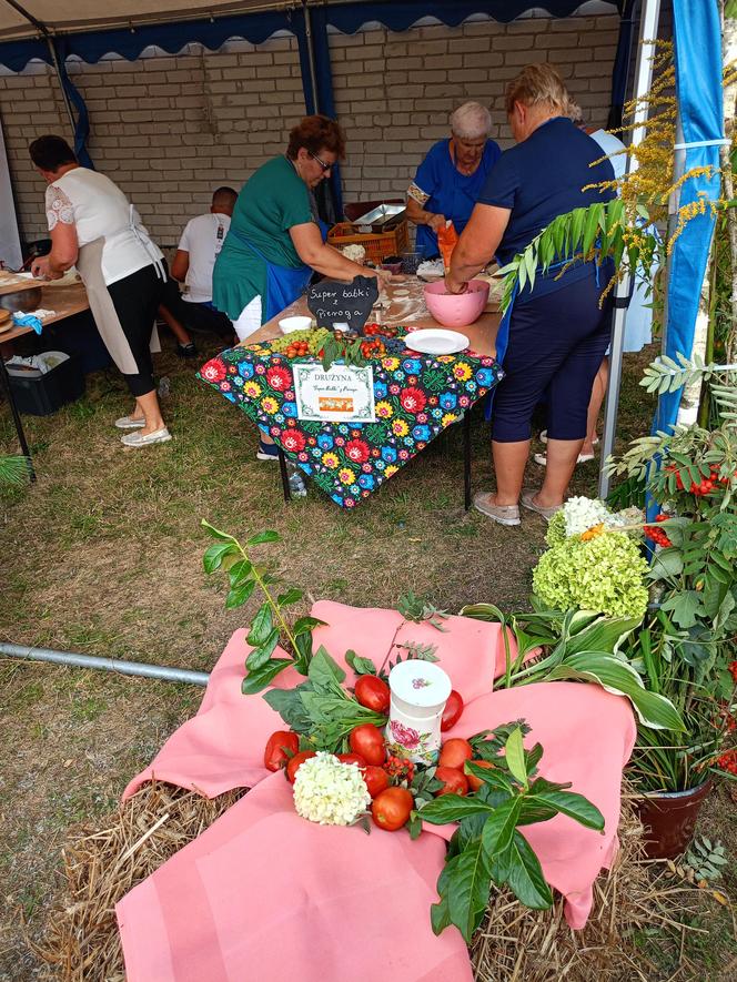
<path fill-rule="evenodd" d="M 326 227 L 312 192 L 344 155 L 339 124 L 310 115 L 290 133 L 286 153 L 259 168 L 241 190 L 212 277 L 213 304 L 228 314 L 241 341 L 293 303 L 313 273 L 345 281 L 388 279 L 324 241 Z M 262 438 L 256 456 L 276 459 L 269 438 Z"/>

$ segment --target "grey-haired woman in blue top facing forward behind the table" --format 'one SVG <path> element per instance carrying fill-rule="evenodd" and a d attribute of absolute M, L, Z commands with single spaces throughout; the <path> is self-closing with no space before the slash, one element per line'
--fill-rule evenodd
<path fill-rule="evenodd" d="M 437 230 L 450 219 L 458 235 L 502 151 L 488 139 L 492 115 L 466 102 L 451 115 L 451 139 L 435 143 L 407 191 L 407 217 L 417 225 L 417 252 L 437 255 Z"/>

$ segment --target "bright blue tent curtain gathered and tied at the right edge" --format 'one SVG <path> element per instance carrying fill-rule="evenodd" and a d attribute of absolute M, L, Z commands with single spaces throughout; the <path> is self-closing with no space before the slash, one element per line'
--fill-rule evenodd
<path fill-rule="evenodd" d="M 695 168 L 719 166 L 724 136 L 721 102 L 721 31 L 716 0 L 674 0 L 676 89 L 683 140 L 684 173 Z M 719 198 L 719 175 L 689 178 L 680 191 L 680 205 Z M 672 358 L 690 356 L 694 331 L 715 220 L 709 209 L 689 221 L 676 240 L 668 275 L 664 352 Z M 658 399 L 654 429 L 668 432 L 676 423 L 682 389 Z"/>

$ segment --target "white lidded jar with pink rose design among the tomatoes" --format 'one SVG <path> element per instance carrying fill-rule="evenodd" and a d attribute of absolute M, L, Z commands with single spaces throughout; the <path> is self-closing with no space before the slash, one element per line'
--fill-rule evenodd
<path fill-rule="evenodd" d="M 411 659 L 392 669 L 388 685 L 392 692 L 386 725 L 388 753 L 415 763 L 435 763 L 451 679 L 437 665 Z"/>

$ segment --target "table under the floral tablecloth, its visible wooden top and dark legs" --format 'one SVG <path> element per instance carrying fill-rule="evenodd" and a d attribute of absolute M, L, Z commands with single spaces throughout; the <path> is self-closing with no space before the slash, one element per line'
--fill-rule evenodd
<path fill-rule="evenodd" d="M 425 306 L 424 287 L 425 283 L 416 276 L 394 276 L 392 282 L 385 286 L 385 293 L 390 302 L 388 308 L 378 312 L 374 308 L 372 317 L 378 313 L 381 323 L 408 328 L 442 327 L 443 325 L 437 323 Z M 271 341 L 274 337 L 279 337 L 283 334 L 279 322 L 283 317 L 294 316 L 310 316 L 305 296 L 299 297 L 280 314 L 276 314 L 275 317 L 272 317 L 271 321 L 266 321 L 258 331 L 241 342 L 241 346 L 248 347 L 248 345 L 255 344 L 256 342 Z M 498 311 L 498 305 L 496 302 L 492 302 L 475 324 L 463 327 L 463 333 L 471 342 L 471 351 L 479 355 L 495 357 L 496 334 L 501 321 L 502 314 Z M 291 494 L 286 458 L 281 447 L 279 448 L 279 465 L 284 499 L 289 500 Z M 471 507 L 471 414 L 468 412 L 463 415 L 463 486 L 464 504 L 467 512 Z"/>

